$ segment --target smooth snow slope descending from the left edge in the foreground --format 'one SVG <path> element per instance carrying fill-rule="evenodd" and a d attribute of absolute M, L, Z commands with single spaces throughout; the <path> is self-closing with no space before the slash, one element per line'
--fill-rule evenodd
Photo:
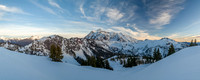
<path fill-rule="evenodd" d="M 0 80 L 92 80 L 101 74 L 107 74 L 105 77 L 109 78 L 112 73 L 105 69 L 52 62 L 45 56 L 21 54 L 2 47 L 0 65 Z"/>

